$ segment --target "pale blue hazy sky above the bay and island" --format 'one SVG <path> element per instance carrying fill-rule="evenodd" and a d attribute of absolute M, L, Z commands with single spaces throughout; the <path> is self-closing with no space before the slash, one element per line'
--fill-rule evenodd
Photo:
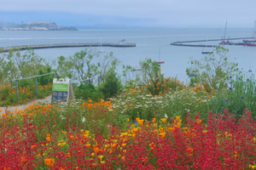
<path fill-rule="evenodd" d="M 253 27 L 256 0 L 1 0 L 0 20 L 62 26 Z"/>

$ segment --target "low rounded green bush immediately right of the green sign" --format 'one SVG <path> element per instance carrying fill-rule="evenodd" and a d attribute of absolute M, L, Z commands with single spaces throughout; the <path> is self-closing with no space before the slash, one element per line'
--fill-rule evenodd
<path fill-rule="evenodd" d="M 94 102 L 104 98 L 104 95 L 92 83 L 80 84 L 78 88 L 75 88 L 74 95 L 76 99 L 92 99 Z"/>

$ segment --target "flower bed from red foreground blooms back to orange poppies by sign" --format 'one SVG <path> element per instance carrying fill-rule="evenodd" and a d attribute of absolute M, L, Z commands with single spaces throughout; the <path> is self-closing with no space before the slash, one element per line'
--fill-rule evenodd
<path fill-rule="evenodd" d="M 4 114 L 0 169 L 255 168 L 256 124 L 248 111 L 238 121 L 226 109 L 210 111 L 207 124 L 199 113 L 133 123 L 110 105 L 77 101 Z"/>

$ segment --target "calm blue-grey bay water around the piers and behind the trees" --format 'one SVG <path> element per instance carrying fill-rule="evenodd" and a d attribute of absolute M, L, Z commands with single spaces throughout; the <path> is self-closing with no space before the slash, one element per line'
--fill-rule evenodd
<path fill-rule="evenodd" d="M 121 65 L 132 65 L 139 67 L 139 61 L 151 58 L 165 61 L 161 65 L 162 72 L 166 77 L 177 77 L 186 81 L 185 70 L 190 65 L 189 57 L 201 59 L 202 48 L 171 46 L 170 42 L 212 39 L 223 37 L 224 29 L 88 29 L 79 31 L 0 31 L 0 47 L 32 44 L 51 43 L 82 43 L 82 42 L 119 42 L 125 39 L 126 42 L 137 43 L 136 48 L 103 48 L 107 54 L 113 55 L 121 60 Z M 227 37 L 253 37 L 252 29 L 228 29 Z M 236 40 L 234 42 L 241 42 Z M 199 42 L 205 44 L 205 42 Z M 218 42 L 207 42 L 218 44 Z M 250 67 L 256 71 L 256 47 L 229 46 L 230 56 L 236 58 L 240 68 L 247 71 Z M 36 49 L 35 53 L 45 59 L 57 59 L 58 56 L 73 55 L 84 48 L 48 48 Z M 208 48 L 211 49 L 211 48 Z M 100 55 L 104 55 L 100 54 Z M 119 71 L 121 71 L 119 67 Z"/>

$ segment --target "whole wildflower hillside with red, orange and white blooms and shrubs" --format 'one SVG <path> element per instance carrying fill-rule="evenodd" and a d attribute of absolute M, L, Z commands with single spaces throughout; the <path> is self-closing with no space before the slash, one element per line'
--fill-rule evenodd
<path fill-rule="evenodd" d="M 225 74 L 212 86 L 205 75 L 191 84 L 164 77 L 150 59 L 141 64 L 140 80 L 122 85 L 112 69 L 99 87 L 74 88 L 67 103 L 5 111 L 0 169 L 256 168 L 253 74 Z M 9 85 L 1 89 L 15 95 Z M 19 89 L 22 99 L 34 90 Z M 50 94 L 51 82 L 39 92 Z"/>

